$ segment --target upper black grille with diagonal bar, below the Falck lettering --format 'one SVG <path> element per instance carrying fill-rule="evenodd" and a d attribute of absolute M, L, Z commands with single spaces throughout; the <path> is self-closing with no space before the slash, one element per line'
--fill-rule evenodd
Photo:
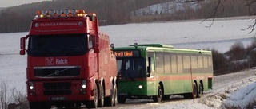
<path fill-rule="evenodd" d="M 79 66 L 54 66 L 54 67 L 34 67 L 36 77 L 69 77 L 79 76 Z"/>

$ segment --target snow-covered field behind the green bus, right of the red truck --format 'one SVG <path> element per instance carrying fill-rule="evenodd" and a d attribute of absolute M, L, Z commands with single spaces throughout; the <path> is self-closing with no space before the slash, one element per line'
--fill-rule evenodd
<path fill-rule="evenodd" d="M 230 18 L 232 19 L 232 18 Z M 250 44 L 251 19 L 216 20 L 211 28 L 207 26 L 212 21 L 169 21 L 157 23 L 141 23 L 126 25 L 102 26 L 100 29 L 110 35 L 110 41 L 116 46 L 139 43 L 163 43 L 184 49 L 218 49 L 226 52 L 234 42 Z"/>

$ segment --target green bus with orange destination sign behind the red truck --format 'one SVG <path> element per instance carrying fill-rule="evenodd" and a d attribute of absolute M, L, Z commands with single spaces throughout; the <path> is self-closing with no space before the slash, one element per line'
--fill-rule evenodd
<path fill-rule="evenodd" d="M 211 51 L 137 43 L 112 49 L 118 65 L 118 103 L 132 98 L 161 102 L 170 95 L 194 99 L 213 86 Z"/>

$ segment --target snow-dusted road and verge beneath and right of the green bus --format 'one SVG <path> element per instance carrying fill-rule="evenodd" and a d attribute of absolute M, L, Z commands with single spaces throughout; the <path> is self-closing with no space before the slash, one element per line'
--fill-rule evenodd
<path fill-rule="evenodd" d="M 230 94 L 238 89 L 245 88 L 249 84 L 256 82 L 255 70 L 251 69 L 243 72 L 230 73 L 222 76 L 214 76 L 213 90 L 205 92 L 200 99 L 183 99 L 174 96 L 163 103 L 154 103 L 152 99 L 128 99 L 125 104 L 118 104 L 116 107 L 103 107 L 106 109 L 211 109 L 230 107 L 224 105 L 224 100 L 230 98 Z M 242 92 L 243 93 L 243 92 Z M 241 102 L 241 101 L 240 101 Z"/>

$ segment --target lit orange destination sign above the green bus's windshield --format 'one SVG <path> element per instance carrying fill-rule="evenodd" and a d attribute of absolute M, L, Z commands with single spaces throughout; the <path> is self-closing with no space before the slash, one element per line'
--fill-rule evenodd
<path fill-rule="evenodd" d="M 116 57 L 138 57 L 139 52 L 136 51 L 114 51 Z"/>

